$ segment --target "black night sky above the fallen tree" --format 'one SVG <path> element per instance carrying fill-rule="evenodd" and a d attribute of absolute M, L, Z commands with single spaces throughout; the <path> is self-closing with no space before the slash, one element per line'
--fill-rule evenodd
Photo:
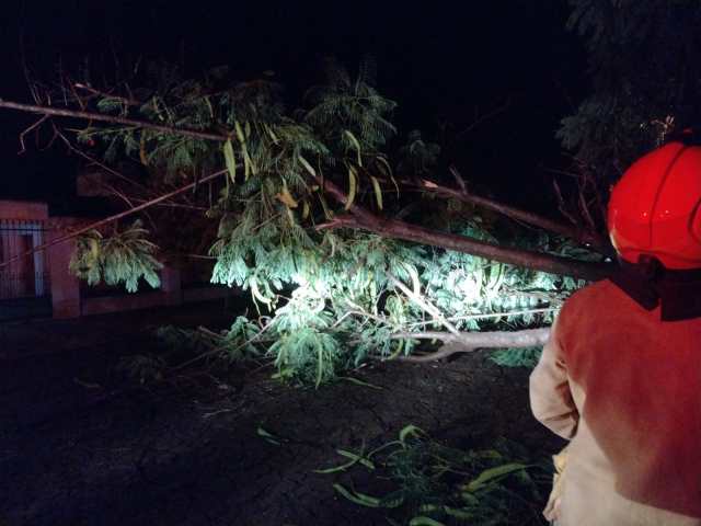
<path fill-rule="evenodd" d="M 186 5 L 176 8 L 174 5 Z M 547 168 L 563 162 L 554 130 L 586 94 L 582 43 L 565 28 L 566 2 L 301 2 L 97 0 L 12 1 L 0 21 L 0 98 L 31 102 L 20 59 L 51 80 L 84 57 L 183 58 L 189 73 L 229 65 L 242 79 L 273 70 L 290 99 L 320 79 L 321 59 L 349 68 L 378 62 L 380 92 L 399 102 L 400 135 L 438 123 L 460 130 L 481 113 L 508 110 L 450 145 L 475 186 L 530 208 L 548 205 Z M 107 66 L 108 67 L 108 66 Z M 19 157 L 18 135 L 34 117 L 0 110 L 0 197 L 70 198 L 76 163 L 60 148 Z"/>

